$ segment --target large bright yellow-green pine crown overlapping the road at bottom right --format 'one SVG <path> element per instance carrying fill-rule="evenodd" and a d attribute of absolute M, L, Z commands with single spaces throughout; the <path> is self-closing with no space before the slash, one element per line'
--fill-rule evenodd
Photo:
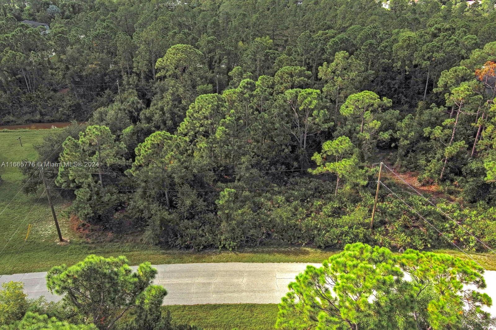
<path fill-rule="evenodd" d="M 444 330 L 489 326 L 484 270 L 446 254 L 346 245 L 307 266 L 279 304 L 277 329 Z M 408 276 L 405 276 L 408 275 Z M 470 285 L 470 287 L 468 287 Z M 486 328 L 480 328 L 486 329 Z"/>

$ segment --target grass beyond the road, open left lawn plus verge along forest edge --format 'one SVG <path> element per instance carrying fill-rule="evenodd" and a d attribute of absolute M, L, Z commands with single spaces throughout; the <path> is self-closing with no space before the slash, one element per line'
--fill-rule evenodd
<path fill-rule="evenodd" d="M 50 134 L 44 130 L 0 130 L 0 165 L 2 162 L 19 162 L 23 159 L 36 160 L 33 144 L 40 143 L 43 136 Z M 22 136 L 23 147 L 16 140 Z M 21 172 L 15 167 L 0 167 L 3 182 L 0 184 L 0 212 L 21 188 Z M 33 178 L 38 180 L 37 177 Z M 103 256 L 125 255 L 131 265 L 144 261 L 152 264 L 174 263 L 221 263 L 221 262 L 302 262 L 319 263 L 335 251 L 314 248 L 252 248 L 238 251 L 179 251 L 163 250 L 142 243 L 100 242 L 92 243 L 74 233 L 67 219 L 59 217 L 62 236 L 70 244 L 57 244 L 57 232 L 50 212 L 46 195 L 24 195 L 22 192 L 0 215 L 0 274 L 47 271 L 62 263 L 73 264 L 88 254 Z M 41 198 L 40 198 L 41 197 Z M 38 200 L 39 199 L 39 200 Z M 61 214 L 64 204 L 56 201 L 55 209 Z M 30 213 L 31 212 L 31 213 Z M 26 241 L 28 224 L 31 233 Z M 8 242 L 8 244 L 7 244 Z M 466 258 L 459 251 L 439 250 Z M 496 270 L 494 255 L 488 253 L 472 254 L 488 270 Z"/>

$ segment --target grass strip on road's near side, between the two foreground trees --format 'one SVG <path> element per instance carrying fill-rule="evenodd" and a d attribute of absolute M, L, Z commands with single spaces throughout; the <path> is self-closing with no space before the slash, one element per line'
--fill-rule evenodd
<path fill-rule="evenodd" d="M 209 304 L 165 306 L 174 324 L 190 324 L 204 330 L 269 330 L 277 318 L 276 304 Z"/>

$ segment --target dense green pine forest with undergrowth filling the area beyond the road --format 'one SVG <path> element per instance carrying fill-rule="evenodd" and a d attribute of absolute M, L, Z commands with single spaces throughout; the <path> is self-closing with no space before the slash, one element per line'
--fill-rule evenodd
<path fill-rule="evenodd" d="M 11 0 L 0 121 L 87 121 L 47 177 L 146 242 L 495 246 L 495 1 L 297 2 Z M 384 169 L 371 228 L 381 161 L 441 198 Z"/>

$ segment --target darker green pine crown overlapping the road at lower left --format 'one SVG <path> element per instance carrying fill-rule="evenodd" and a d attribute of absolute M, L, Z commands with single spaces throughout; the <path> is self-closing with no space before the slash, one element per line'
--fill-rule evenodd
<path fill-rule="evenodd" d="M 162 299 L 167 294 L 161 285 L 151 284 L 156 274 L 149 262 L 133 273 L 124 256 L 89 255 L 73 266 L 52 268 L 47 286 L 50 292 L 63 295 L 66 304 L 100 330 L 112 329 L 130 313 L 135 315 L 137 329 L 143 329 L 146 322 L 160 317 Z"/>

